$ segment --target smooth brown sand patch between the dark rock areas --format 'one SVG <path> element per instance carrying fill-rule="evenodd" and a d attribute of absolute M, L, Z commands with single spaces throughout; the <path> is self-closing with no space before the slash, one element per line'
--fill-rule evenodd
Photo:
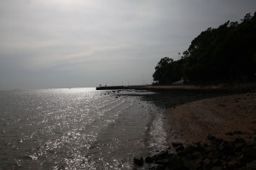
<path fill-rule="evenodd" d="M 208 134 L 226 140 L 250 140 L 256 136 L 256 92 L 179 105 L 166 110 L 164 120 L 170 145 L 207 143 Z M 242 134 L 226 134 L 234 131 Z"/>

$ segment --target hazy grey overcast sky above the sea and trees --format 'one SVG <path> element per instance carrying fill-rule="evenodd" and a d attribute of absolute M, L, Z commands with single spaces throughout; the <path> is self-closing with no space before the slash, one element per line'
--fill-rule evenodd
<path fill-rule="evenodd" d="M 0 0 L 0 90 L 152 82 L 208 27 L 255 0 Z"/>

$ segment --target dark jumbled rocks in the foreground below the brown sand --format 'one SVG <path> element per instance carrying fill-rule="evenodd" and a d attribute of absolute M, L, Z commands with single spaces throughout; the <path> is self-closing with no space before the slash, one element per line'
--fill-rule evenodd
<path fill-rule="evenodd" d="M 256 139 L 247 142 L 236 138 L 225 141 L 207 137 L 209 144 L 196 143 L 184 147 L 172 143 L 176 153 L 163 150 L 154 156 L 134 157 L 134 169 L 151 170 L 255 170 Z"/>

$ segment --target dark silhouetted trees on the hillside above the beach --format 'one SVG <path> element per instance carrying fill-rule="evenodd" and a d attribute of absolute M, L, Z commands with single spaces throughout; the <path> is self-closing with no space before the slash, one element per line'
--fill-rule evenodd
<path fill-rule="evenodd" d="M 256 12 L 202 31 L 181 59 L 165 57 L 155 67 L 154 81 L 252 82 L 256 73 Z"/>

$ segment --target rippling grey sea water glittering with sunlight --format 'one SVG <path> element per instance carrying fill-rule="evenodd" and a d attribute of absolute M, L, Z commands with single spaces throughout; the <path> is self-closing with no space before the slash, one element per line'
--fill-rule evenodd
<path fill-rule="evenodd" d="M 165 147 L 160 112 L 95 88 L 0 92 L 0 169 L 131 169 Z"/>

